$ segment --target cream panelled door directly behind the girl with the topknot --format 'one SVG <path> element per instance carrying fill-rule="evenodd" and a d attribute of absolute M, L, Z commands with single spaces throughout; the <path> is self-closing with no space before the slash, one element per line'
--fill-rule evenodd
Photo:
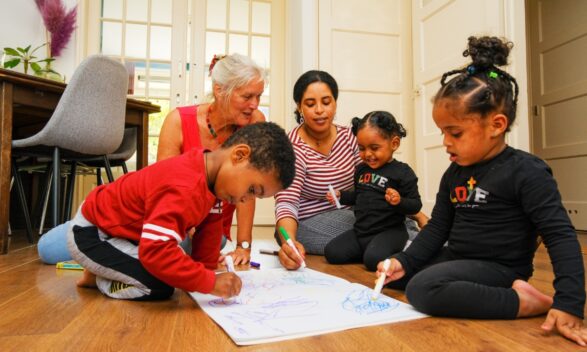
<path fill-rule="evenodd" d="M 512 65 L 507 70 L 517 78 L 521 96 L 519 121 L 509 143 L 527 150 L 524 8 L 523 2 L 503 0 L 429 0 L 413 1 L 412 5 L 416 173 L 423 211 L 430 215 L 440 178 L 449 165 L 442 137 L 432 120 L 431 100 L 442 74 L 469 62 L 462 52 L 471 35 L 506 37 L 515 43 Z"/>

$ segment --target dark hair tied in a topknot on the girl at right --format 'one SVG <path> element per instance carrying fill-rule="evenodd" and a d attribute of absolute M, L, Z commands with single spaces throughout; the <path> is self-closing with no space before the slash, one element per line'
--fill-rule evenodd
<path fill-rule="evenodd" d="M 507 65 L 512 48 L 512 42 L 497 37 L 469 37 L 463 56 L 470 56 L 472 63 L 442 75 L 434 103 L 442 98 L 463 99 L 467 113 L 481 117 L 503 113 L 509 131 L 516 119 L 519 87 L 514 77 L 497 66 Z M 456 76 L 446 82 L 452 75 Z"/>

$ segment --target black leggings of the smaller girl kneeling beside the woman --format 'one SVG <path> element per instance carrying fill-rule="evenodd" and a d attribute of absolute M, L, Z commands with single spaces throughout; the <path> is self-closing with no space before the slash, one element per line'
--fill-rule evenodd
<path fill-rule="evenodd" d="M 330 264 L 362 262 L 369 271 L 377 270 L 377 264 L 401 252 L 408 241 L 406 226 L 400 226 L 371 236 L 357 236 L 354 230 L 343 232 L 324 248 L 324 256 Z"/>

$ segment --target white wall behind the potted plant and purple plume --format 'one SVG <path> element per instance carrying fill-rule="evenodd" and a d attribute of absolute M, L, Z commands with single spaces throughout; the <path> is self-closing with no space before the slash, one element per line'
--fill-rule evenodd
<path fill-rule="evenodd" d="M 64 0 L 69 10 L 77 3 L 76 0 Z M 45 38 L 45 26 L 34 0 L 0 0 L 0 48 L 27 47 L 31 49 L 43 44 Z M 80 14 L 78 13 L 78 17 Z M 76 67 L 76 32 L 71 36 L 67 47 L 53 62 L 53 69 L 62 75 L 71 77 Z M 47 52 L 44 48 L 37 51 L 37 57 L 44 59 Z M 16 69 L 16 68 L 15 68 Z M 22 65 L 18 71 L 22 72 Z"/>

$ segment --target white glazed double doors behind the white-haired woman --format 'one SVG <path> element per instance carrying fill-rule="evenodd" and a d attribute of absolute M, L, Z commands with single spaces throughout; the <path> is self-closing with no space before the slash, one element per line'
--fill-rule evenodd
<path fill-rule="evenodd" d="M 131 97 L 161 106 L 149 116 L 149 163 L 157 156 L 159 131 L 176 106 L 206 102 L 215 54 L 238 52 L 268 70 L 259 109 L 271 120 L 279 111 L 283 75 L 283 0 L 100 0 L 88 3 L 87 54 L 121 60 L 134 72 Z M 279 20 L 279 21 L 276 21 Z M 279 23 L 279 25 L 277 25 Z M 275 27 L 281 26 L 281 27 Z M 279 30 L 275 30 L 279 28 Z M 275 32 L 280 33 L 279 37 Z M 272 46 L 274 48 L 272 48 Z M 276 54 L 277 53 L 277 54 Z M 277 84 L 277 86 L 276 86 Z M 277 109 L 277 110 L 276 110 Z M 273 119 L 274 120 L 274 119 Z"/>

